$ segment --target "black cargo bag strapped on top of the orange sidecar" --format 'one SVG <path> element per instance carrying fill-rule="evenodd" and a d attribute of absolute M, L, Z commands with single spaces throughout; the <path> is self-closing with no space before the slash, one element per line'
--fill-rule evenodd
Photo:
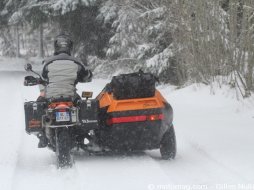
<path fill-rule="evenodd" d="M 132 99 L 153 97 L 157 78 L 151 73 L 136 73 L 114 76 L 111 88 L 116 99 Z"/>

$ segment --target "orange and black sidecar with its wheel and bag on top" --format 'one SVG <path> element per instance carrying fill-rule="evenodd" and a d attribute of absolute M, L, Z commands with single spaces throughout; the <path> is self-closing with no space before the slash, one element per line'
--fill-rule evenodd
<path fill-rule="evenodd" d="M 144 78 L 140 80 L 141 75 L 120 76 L 122 86 L 114 85 L 113 79 L 97 96 L 100 120 L 97 138 L 101 146 L 111 150 L 160 148 L 163 159 L 172 159 L 176 154 L 172 107 L 155 89 L 154 81 L 149 84 Z M 132 81 L 140 82 L 132 85 Z M 135 94 L 137 88 L 140 91 Z"/>

